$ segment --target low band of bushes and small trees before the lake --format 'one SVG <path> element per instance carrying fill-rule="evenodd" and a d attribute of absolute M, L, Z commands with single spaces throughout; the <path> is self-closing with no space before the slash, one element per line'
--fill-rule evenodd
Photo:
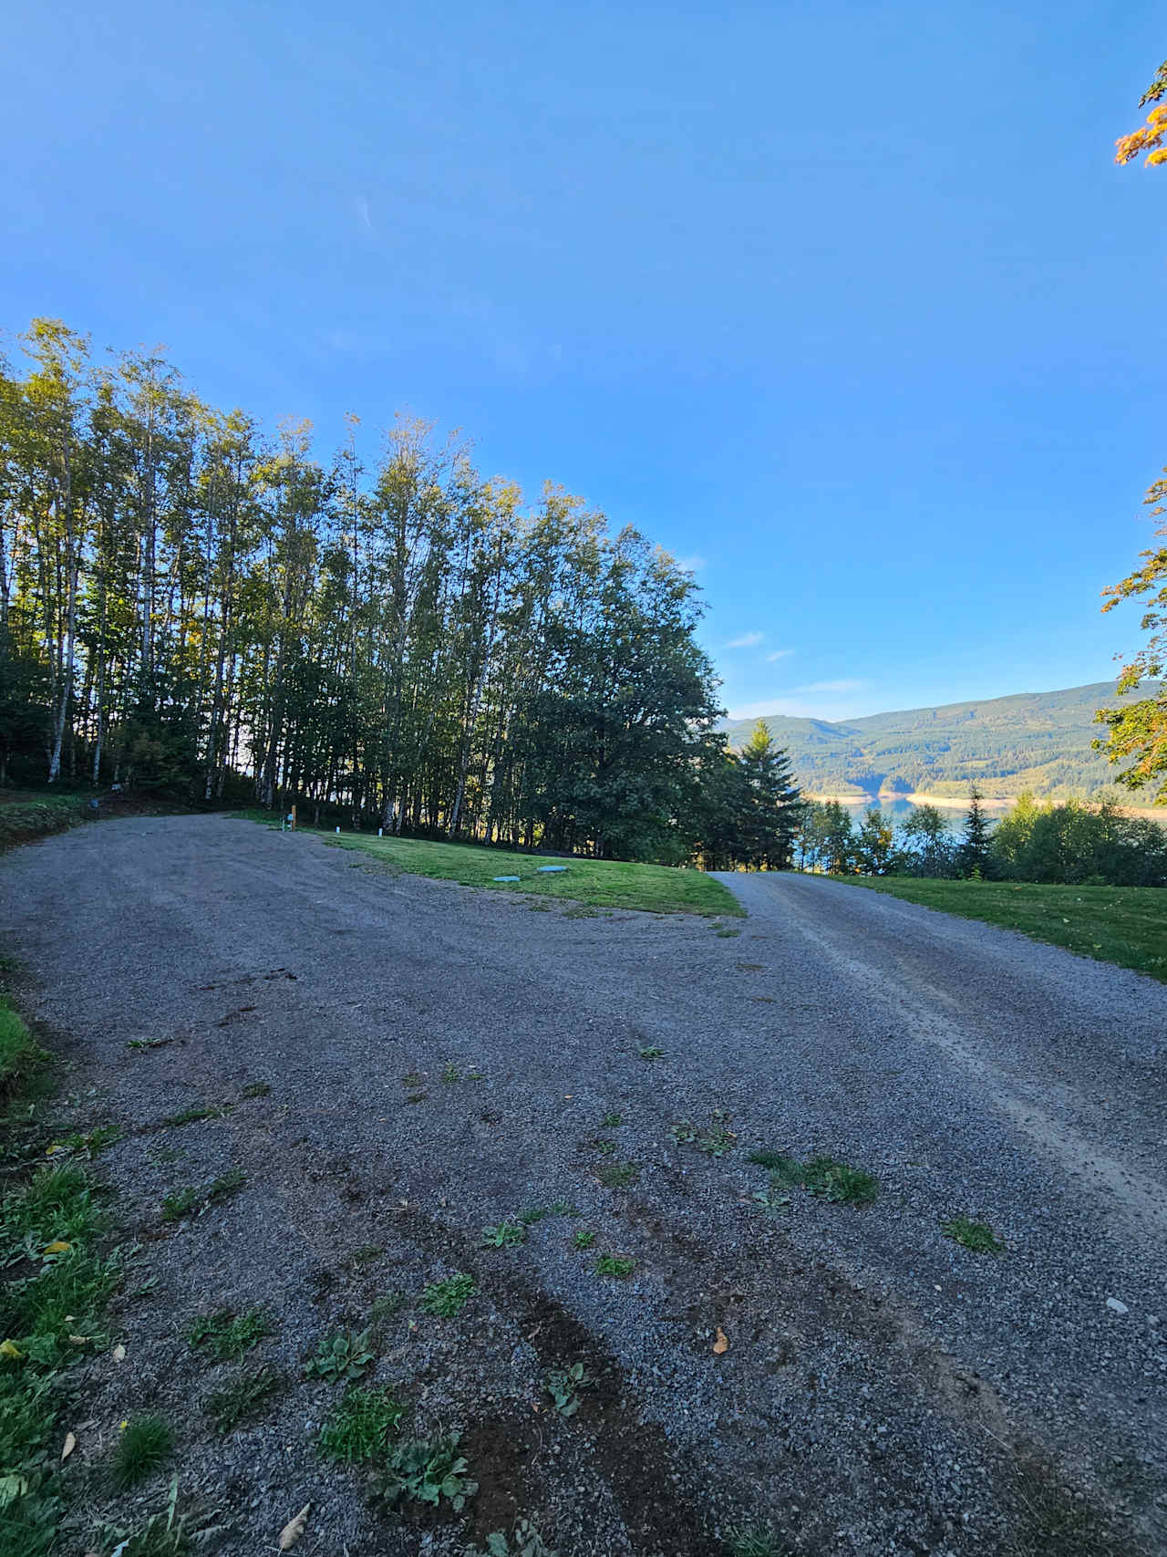
<path fill-rule="evenodd" d="M 962 833 L 934 805 L 898 825 L 868 807 L 857 825 L 839 802 L 811 803 L 795 863 L 832 875 L 974 877 L 1069 886 L 1167 886 L 1167 828 L 1103 802 L 1019 797 L 996 825 L 972 793 Z"/>

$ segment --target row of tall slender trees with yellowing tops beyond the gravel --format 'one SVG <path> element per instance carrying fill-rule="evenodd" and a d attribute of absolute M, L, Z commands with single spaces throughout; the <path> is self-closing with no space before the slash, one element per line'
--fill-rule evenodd
<path fill-rule="evenodd" d="M 713 730 L 694 579 L 638 531 L 554 486 L 526 504 L 420 422 L 366 466 L 353 419 L 321 461 L 307 424 L 266 436 L 160 355 L 95 361 L 51 319 L 20 346 L 23 372 L 0 363 L 0 782 L 783 861 L 795 793 L 761 821 L 761 758 Z"/>

